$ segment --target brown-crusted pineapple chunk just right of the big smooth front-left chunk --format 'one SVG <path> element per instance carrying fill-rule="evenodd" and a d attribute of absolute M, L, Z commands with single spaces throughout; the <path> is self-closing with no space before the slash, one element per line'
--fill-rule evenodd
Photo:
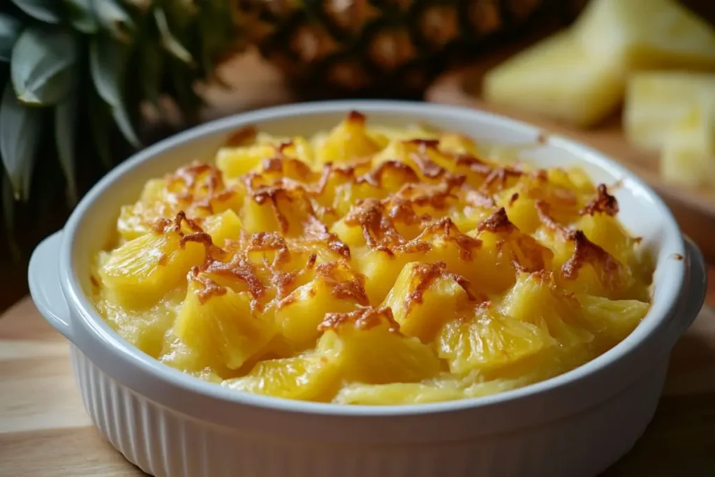
<path fill-rule="evenodd" d="M 362 277 L 340 262 L 317 266 L 316 277 L 297 287 L 279 303 L 275 320 L 282 335 L 297 350 L 315 345 L 318 325 L 326 313 L 347 313 L 368 305 Z"/>

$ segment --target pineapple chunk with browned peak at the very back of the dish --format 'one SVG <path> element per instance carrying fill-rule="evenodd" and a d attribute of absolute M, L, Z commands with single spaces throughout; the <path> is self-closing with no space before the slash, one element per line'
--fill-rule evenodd
<path fill-rule="evenodd" d="M 340 164 L 370 157 L 379 150 L 380 144 L 365 129 L 365 117 L 352 112 L 316 145 L 315 160 L 318 164 Z"/>

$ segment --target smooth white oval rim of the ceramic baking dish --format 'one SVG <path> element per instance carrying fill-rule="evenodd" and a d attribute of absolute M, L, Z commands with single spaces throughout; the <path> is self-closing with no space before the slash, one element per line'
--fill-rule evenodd
<path fill-rule="evenodd" d="M 272 119 L 296 117 L 301 114 L 337 114 L 340 112 L 349 112 L 350 110 L 358 110 L 363 112 L 368 119 L 370 114 L 374 112 L 404 115 L 409 117 L 410 113 L 418 114 L 418 116 L 428 115 L 430 110 L 440 115 L 450 114 L 455 117 L 481 118 L 483 122 L 489 122 L 495 127 L 502 129 L 505 134 L 509 130 L 511 132 L 521 132 L 521 134 L 536 134 L 542 132 L 542 129 L 528 124 L 526 122 L 509 119 L 498 114 L 485 112 L 483 110 L 469 109 L 464 107 L 453 107 L 443 104 L 432 104 L 422 102 L 403 102 L 394 100 L 340 100 L 340 101 L 325 101 L 325 102 L 305 102 L 298 104 L 287 104 L 277 107 L 269 107 L 258 109 L 252 112 L 235 114 L 230 117 L 215 119 L 211 122 L 201 124 L 197 127 L 187 129 L 184 132 L 176 134 L 172 137 L 157 142 L 152 146 L 143 149 L 134 154 L 126 161 L 119 164 L 106 174 L 102 180 L 99 180 L 94 187 L 82 198 L 77 207 L 71 213 L 69 220 L 63 227 L 61 236 L 61 244 L 59 251 L 59 276 L 60 285 L 65 297 L 67 306 L 71 309 L 71 325 L 79 325 L 82 321 L 82 326 L 89 328 L 89 334 L 94 339 L 102 342 L 102 346 L 107 353 L 112 353 L 114 358 L 124 360 L 125 363 L 141 368 L 141 370 L 154 379 L 164 380 L 174 388 L 180 388 L 194 394 L 203 395 L 207 398 L 232 403 L 235 405 L 248 405 L 265 409 L 289 411 L 292 413 L 307 413 L 313 415 L 337 415 L 340 417 L 386 417 L 386 416 L 410 416 L 410 415 L 427 415 L 435 413 L 451 413 L 459 410 L 468 410 L 475 408 L 486 408 L 492 405 L 522 400 L 533 395 L 546 393 L 546 391 L 556 390 L 574 381 L 587 378 L 589 375 L 596 374 L 603 368 L 608 368 L 615 364 L 618 360 L 625 357 L 629 353 L 633 353 L 641 346 L 646 345 L 649 338 L 660 328 L 669 325 L 669 318 L 673 319 L 673 313 L 679 308 L 678 297 L 686 281 L 686 261 L 674 260 L 673 265 L 676 267 L 676 277 L 671 282 L 671 286 L 664 287 L 658 292 L 660 295 L 665 295 L 664 301 L 659 309 L 654 310 L 651 306 L 646 318 L 638 325 L 636 330 L 628 335 L 621 343 L 606 351 L 602 355 L 585 363 L 578 368 L 569 370 L 566 373 L 557 375 L 547 380 L 542 380 L 531 385 L 526 385 L 521 388 L 504 391 L 494 395 L 486 395 L 478 398 L 465 398 L 461 400 L 440 401 L 436 403 L 420 403 L 407 405 L 345 405 L 337 403 L 316 403 L 311 401 L 292 400 L 286 398 L 277 398 L 268 395 L 257 395 L 238 390 L 224 388 L 216 383 L 209 383 L 191 375 L 182 373 L 180 370 L 161 363 L 156 358 L 152 358 L 143 351 L 136 348 L 134 345 L 124 340 L 119 333 L 112 330 L 109 324 L 96 311 L 94 304 L 85 295 L 82 285 L 79 283 L 77 270 L 74 270 L 74 244 L 77 242 L 75 237 L 78 233 L 79 225 L 85 212 L 89 210 L 94 202 L 101 201 L 105 190 L 114 182 L 121 181 L 122 178 L 129 174 L 134 167 L 147 161 L 151 161 L 157 155 L 167 149 L 177 147 L 185 147 L 187 144 L 195 140 L 202 139 L 206 136 L 217 134 L 218 132 L 230 132 L 247 124 L 255 124 L 260 128 L 261 123 Z M 421 119 L 421 118 L 420 118 Z M 634 174 L 628 171 L 625 167 L 618 164 L 613 159 L 601 154 L 591 147 L 584 144 L 561 137 L 558 134 L 548 134 L 548 142 L 554 147 L 565 149 L 573 154 L 579 163 L 590 163 L 604 169 L 608 174 L 614 177 L 621 177 L 621 182 L 626 187 L 633 190 L 634 193 L 642 195 L 651 203 L 651 212 L 664 223 L 664 226 L 669 232 L 677 232 L 679 241 L 677 242 L 677 250 L 672 250 L 671 253 L 686 255 L 686 247 L 683 237 L 680 235 L 679 227 L 672 216 L 668 207 L 651 188 L 642 180 L 638 179 Z M 661 261 L 656 265 L 661 265 Z M 657 267 L 656 267 L 657 270 Z M 72 313 L 74 311 L 75 313 Z M 79 319 L 77 319 L 79 318 Z M 77 344 L 77 343 L 75 343 Z M 82 350 L 81 344 L 77 344 Z"/>

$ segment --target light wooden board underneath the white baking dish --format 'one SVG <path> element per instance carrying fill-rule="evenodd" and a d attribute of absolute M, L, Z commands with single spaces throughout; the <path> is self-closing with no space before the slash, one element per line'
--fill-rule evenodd
<path fill-rule="evenodd" d="M 712 306 L 715 267 L 710 275 Z M 714 451 L 715 313 L 706 308 L 676 345 L 653 423 L 601 477 L 712 477 Z M 69 345 L 25 298 L 0 318 L 0 477 L 79 476 L 144 473 L 94 429 L 74 387 Z"/>

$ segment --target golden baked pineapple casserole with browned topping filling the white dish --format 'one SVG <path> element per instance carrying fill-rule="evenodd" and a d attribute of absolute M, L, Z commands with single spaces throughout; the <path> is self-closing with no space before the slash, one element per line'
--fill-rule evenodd
<path fill-rule="evenodd" d="M 500 393 L 596 358 L 653 267 L 605 185 L 353 112 L 149 180 L 92 271 L 129 343 L 226 388 L 345 404 Z"/>

